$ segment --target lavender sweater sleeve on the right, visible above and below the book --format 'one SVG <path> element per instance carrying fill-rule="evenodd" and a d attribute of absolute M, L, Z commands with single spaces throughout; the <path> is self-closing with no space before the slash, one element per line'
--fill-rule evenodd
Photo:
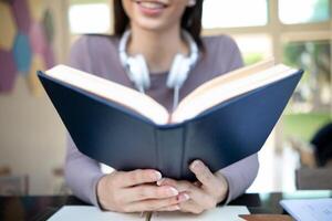
<path fill-rule="evenodd" d="M 228 54 L 227 72 L 243 66 L 240 50 L 231 38 L 220 38 L 219 50 L 225 50 Z M 258 156 L 255 154 L 218 171 L 225 176 L 229 187 L 227 199 L 224 201 L 226 204 L 245 193 L 257 177 L 258 169 Z"/>

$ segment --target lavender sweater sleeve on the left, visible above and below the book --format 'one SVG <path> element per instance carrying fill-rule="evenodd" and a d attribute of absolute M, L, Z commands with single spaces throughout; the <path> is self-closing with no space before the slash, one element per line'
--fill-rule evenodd
<path fill-rule="evenodd" d="M 82 71 L 91 69 L 87 51 L 87 36 L 77 40 L 71 50 L 70 65 Z M 68 186 L 81 200 L 98 206 L 96 198 L 97 181 L 104 176 L 97 161 L 81 154 L 68 135 L 64 176 Z"/>

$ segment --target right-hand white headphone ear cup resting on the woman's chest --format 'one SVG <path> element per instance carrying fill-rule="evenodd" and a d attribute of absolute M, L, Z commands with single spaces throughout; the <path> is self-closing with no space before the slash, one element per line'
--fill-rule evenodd
<path fill-rule="evenodd" d="M 190 71 L 190 62 L 183 54 L 174 57 L 170 71 L 167 76 L 166 85 L 169 88 L 181 87 Z"/>

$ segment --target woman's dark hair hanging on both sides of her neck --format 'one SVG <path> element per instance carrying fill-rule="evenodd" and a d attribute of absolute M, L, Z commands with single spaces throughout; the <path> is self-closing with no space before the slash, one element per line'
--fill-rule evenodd
<path fill-rule="evenodd" d="M 187 30 L 200 50 L 204 50 L 200 39 L 203 0 L 196 0 L 194 7 L 187 8 L 181 18 L 181 28 Z M 129 23 L 121 0 L 114 1 L 114 33 L 121 36 Z"/>

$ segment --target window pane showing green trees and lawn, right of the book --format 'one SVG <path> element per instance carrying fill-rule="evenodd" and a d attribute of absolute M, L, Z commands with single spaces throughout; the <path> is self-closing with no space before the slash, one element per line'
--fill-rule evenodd
<path fill-rule="evenodd" d="M 301 66 L 305 73 L 283 116 L 284 137 L 309 141 L 331 119 L 331 43 L 322 41 L 289 42 L 283 46 L 283 61 Z"/>

